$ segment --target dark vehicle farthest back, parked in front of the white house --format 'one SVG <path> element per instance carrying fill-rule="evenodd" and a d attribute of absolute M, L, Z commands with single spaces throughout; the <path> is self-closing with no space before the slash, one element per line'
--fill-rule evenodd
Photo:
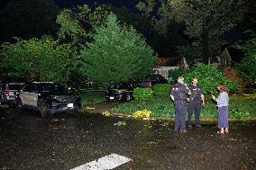
<path fill-rule="evenodd" d="M 137 81 L 140 87 L 152 87 L 156 84 L 168 84 L 168 80 L 161 75 L 149 75 L 140 81 Z"/>

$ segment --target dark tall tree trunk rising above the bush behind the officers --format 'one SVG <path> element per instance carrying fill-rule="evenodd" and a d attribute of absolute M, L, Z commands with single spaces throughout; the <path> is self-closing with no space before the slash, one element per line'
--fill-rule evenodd
<path fill-rule="evenodd" d="M 208 29 L 206 21 L 203 21 L 203 33 L 202 33 L 202 57 L 204 64 L 208 64 L 209 59 L 209 40 L 208 40 Z"/>

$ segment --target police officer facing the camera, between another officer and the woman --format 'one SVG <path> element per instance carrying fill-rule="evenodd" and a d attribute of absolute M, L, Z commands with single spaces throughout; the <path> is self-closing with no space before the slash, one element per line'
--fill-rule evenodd
<path fill-rule="evenodd" d="M 196 127 L 201 127 L 200 125 L 200 111 L 201 111 L 201 104 L 205 105 L 205 96 L 202 92 L 202 88 L 197 86 L 197 78 L 194 77 L 192 81 L 192 85 L 188 86 L 191 94 L 188 100 L 188 114 L 187 114 L 187 127 L 191 128 L 191 116 L 193 112 L 195 112 L 195 125 Z"/>

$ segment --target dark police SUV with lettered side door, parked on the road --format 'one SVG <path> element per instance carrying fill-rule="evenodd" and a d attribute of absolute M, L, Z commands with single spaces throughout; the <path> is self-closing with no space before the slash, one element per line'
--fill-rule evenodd
<path fill-rule="evenodd" d="M 29 108 L 47 113 L 78 112 L 81 107 L 80 98 L 70 94 L 62 85 L 50 82 L 35 82 L 23 85 L 17 104 L 19 108 Z"/>

